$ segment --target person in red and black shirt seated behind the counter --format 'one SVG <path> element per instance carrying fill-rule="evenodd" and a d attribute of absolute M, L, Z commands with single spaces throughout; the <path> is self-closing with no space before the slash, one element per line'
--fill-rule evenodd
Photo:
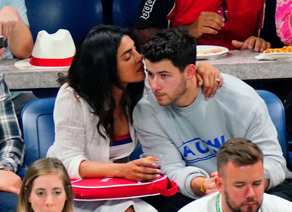
<path fill-rule="evenodd" d="M 199 45 L 264 51 L 259 38 L 265 0 L 143 0 L 134 25 L 136 44 L 146 43 L 159 28 L 186 26 Z"/>

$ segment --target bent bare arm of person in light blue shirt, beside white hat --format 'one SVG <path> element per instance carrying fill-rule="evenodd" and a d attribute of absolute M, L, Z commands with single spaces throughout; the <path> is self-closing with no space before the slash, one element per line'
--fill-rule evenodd
<path fill-rule="evenodd" d="M 17 9 L 5 6 L 0 10 L 0 35 L 8 39 L 8 47 L 16 57 L 26 59 L 31 55 L 32 33 Z"/>

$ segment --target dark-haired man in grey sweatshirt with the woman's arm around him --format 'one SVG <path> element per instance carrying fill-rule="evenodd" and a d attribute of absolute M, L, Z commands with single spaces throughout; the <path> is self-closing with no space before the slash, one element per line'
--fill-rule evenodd
<path fill-rule="evenodd" d="M 216 153 L 234 137 L 250 139 L 263 151 L 265 190 L 288 177 L 277 130 L 252 87 L 222 74 L 223 86 L 204 99 L 196 83 L 196 40 L 185 28 L 155 33 L 142 54 L 152 91 L 135 107 L 133 125 L 144 152 L 165 156 L 161 171 L 184 197 L 198 199 L 218 191 Z"/>

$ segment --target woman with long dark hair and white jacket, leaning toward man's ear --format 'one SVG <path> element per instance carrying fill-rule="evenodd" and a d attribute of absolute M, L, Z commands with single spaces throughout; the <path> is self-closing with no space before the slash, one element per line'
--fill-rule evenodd
<path fill-rule="evenodd" d="M 132 113 L 144 79 L 142 56 L 128 32 L 93 27 L 77 46 L 68 76 L 59 77 L 63 85 L 54 108 L 55 142 L 47 157 L 59 158 L 74 179 L 159 177 L 159 169 L 145 168 L 155 165 L 151 161 L 129 159 L 138 142 Z M 138 198 L 76 201 L 74 210 L 156 211 Z"/>

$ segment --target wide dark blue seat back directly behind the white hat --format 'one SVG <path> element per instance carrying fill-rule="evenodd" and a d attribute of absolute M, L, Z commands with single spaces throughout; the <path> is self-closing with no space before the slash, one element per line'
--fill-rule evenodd
<path fill-rule="evenodd" d="M 41 30 L 52 34 L 66 29 L 77 45 L 91 27 L 103 23 L 101 0 L 26 0 L 25 4 L 34 42 Z"/>

